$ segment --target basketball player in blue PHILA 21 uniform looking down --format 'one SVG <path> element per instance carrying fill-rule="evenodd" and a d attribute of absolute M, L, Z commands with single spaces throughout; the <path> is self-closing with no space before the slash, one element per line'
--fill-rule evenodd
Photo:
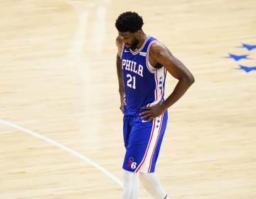
<path fill-rule="evenodd" d="M 155 166 L 167 124 L 167 109 L 188 90 L 191 72 L 156 38 L 142 31 L 135 12 L 117 18 L 117 76 L 124 114 L 123 199 L 139 198 L 139 180 L 156 199 L 170 198 L 156 176 Z M 178 79 L 164 100 L 166 72 Z"/>

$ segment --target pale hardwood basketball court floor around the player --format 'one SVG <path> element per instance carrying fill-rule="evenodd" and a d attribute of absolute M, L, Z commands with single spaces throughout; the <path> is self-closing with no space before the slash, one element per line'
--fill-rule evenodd
<path fill-rule="evenodd" d="M 0 198 L 121 198 L 114 21 L 124 11 L 196 82 L 156 172 L 173 198 L 256 198 L 256 1 L 1 1 Z M 237 62 L 228 53 L 249 55 Z M 168 75 L 166 95 L 176 85 Z M 142 199 L 150 198 L 142 189 Z"/>

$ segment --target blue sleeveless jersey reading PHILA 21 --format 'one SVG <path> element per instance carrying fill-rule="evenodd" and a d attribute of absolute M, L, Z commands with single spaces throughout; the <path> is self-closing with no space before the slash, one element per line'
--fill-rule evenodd
<path fill-rule="evenodd" d="M 124 75 L 124 115 L 137 116 L 144 112 L 141 107 L 150 107 L 164 100 L 166 68 L 153 68 L 149 63 L 149 48 L 156 38 L 147 36 L 139 50 L 133 51 L 123 44 L 122 70 Z"/>

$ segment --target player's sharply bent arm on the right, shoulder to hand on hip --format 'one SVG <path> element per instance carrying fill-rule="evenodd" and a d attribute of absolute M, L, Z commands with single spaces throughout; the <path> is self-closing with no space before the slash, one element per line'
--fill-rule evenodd
<path fill-rule="evenodd" d="M 164 114 L 166 109 L 177 102 L 195 80 L 188 68 L 186 68 L 180 60 L 174 57 L 170 50 L 160 42 L 155 42 L 151 45 L 151 48 L 149 49 L 149 56 L 153 58 L 156 63 L 163 65 L 166 70 L 178 80 L 174 91 L 163 103 L 159 103 L 154 107 L 142 107 L 142 109 L 148 109 L 140 114 L 142 119 L 149 118 L 148 121 L 150 122 L 155 117 Z"/>

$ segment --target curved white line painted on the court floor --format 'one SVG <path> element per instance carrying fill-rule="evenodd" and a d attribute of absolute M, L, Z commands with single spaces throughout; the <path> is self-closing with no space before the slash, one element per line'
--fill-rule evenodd
<path fill-rule="evenodd" d="M 82 161 L 85 161 L 86 163 L 90 164 L 91 166 L 97 168 L 97 170 L 102 171 L 102 173 L 104 173 L 107 177 L 111 178 L 115 183 L 117 183 L 118 185 L 123 187 L 122 182 L 116 176 L 114 176 L 112 173 L 110 173 L 110 171 L 107 171 L 105 168 L 103 168 L 102 166 L 95 163 L 95 161 L 90 160 L 90 158 L 87 158 L 86 156 L 82 156 L 80 153 L 78 153 L 78 151 L 70 149 L 67 146 L 64 146 L 63 144 L 60 144 L 57 141 L 54 141 L 53 139 L 49 139 L 48 137 L 42 136 L 41 134 L 33 132 L 29 129 L 25 129 L 16 124 L 12 124 L 11 122 L 7 122 L 7 121 L 0 119 L 0 123 L 4 124 L 6 126 L 12 127 L 14 129 L 21 130 L 21 131 L 31 134 L 33 136 L 36 136 L 39 139 L 43 139 L 44 141 L 46 141 L 50 144 L 53 144 L 54 146 L 57 146 L 60 149 L 63 149 L 64 151 L 67 151 L 68 153 L 72 154 L 73 156 L 76 156 L 76 157 L 80 158 Z"/>

